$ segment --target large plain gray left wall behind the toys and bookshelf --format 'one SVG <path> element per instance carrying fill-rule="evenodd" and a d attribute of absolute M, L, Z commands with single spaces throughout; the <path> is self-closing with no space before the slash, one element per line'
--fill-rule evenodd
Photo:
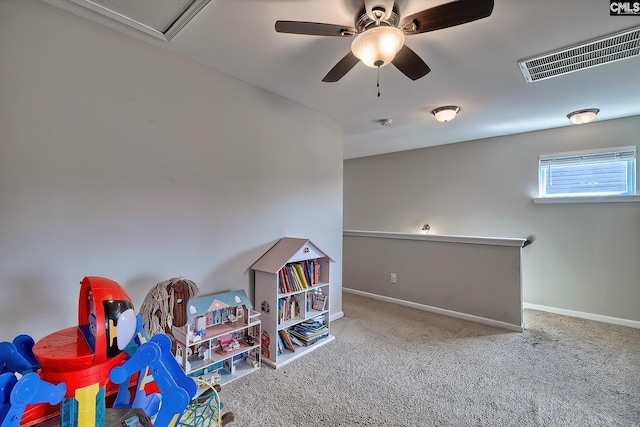
<path fill-rule="evenodd" d="M 335 261 L 333 119 L 37 0 L 0 2 L 0 340 L 77 324 L 79 282 L 246 289 L 282 236 Z M 311 209 L 309 209 L 311 208 Z M 337 290 L 337 291 L 336 291 Z"/>

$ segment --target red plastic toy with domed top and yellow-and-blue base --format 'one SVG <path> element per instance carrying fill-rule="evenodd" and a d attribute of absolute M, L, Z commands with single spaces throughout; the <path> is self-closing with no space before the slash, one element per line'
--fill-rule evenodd
<path fill-rule="evenodd" d="M 109 372 L 122 365 L 122 350 L 136 331 L 136 314 L 125 290 L 104 277 L 80 283 L 78 326 L 54 332 L 33 346 L 41 378 L 65 383 L 61 426 L 104 425 Z"/>

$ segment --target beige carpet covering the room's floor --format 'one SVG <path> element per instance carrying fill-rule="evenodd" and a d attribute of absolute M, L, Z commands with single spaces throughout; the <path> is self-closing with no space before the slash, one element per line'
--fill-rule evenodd
<path fill-rule="evenodd" d="M 232 426 L 640 426 L 640 330 L 526 310 L 524 333 L 344 294 L 336 340 L 223 387 Z"/>

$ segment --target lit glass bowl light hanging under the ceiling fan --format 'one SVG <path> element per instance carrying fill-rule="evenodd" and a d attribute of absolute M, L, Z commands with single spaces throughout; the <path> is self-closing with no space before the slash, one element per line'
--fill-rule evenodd
<path fill-rule="evenodd" d="M 358 34 L 351 52 L 367 67 L 384 67 L 404 46 L 404 33 L 396 27 L 378 26 Z"/>

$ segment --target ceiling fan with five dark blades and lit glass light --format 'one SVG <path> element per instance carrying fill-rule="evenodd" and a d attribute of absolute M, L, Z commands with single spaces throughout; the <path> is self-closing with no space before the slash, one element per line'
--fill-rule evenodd
<path fill-rule="evenodd" d="M 441 30 L 478 19 L 493 11 L 494 0 L 457 0 L 400 19 L 394 0 L 364 0 L 356 13 L 354 27 L 304 21 L 276 21 L 279 33 L 312 36 L 356 36 L 347 53 L 322 79 L 337 82 L 360 61 L 373 68 L 393 64 L 411 80 L 431 69 L 407 45 L 405 36 Z"/>

